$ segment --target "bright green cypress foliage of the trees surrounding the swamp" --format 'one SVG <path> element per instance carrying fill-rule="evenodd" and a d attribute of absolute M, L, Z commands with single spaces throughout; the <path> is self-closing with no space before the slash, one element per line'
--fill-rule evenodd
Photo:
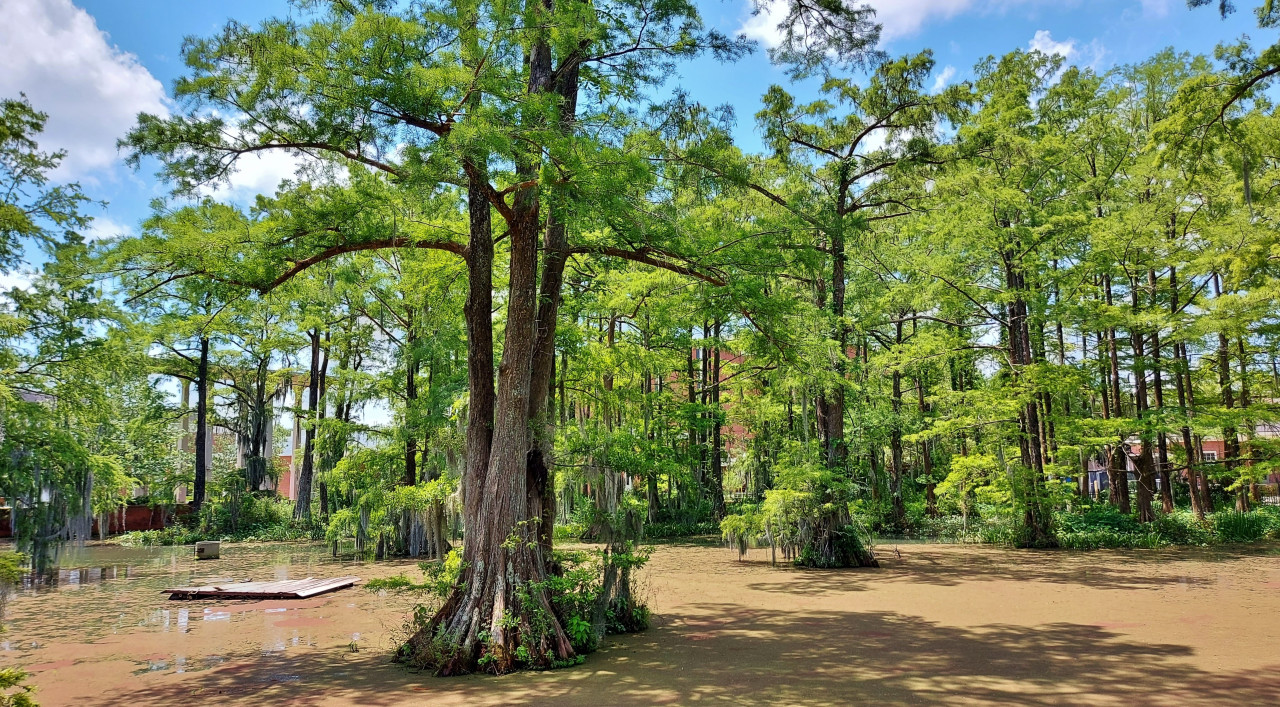
<path fill-rule="evenodd" d="M 822 567 L 874 564 L 873 532 L 1274 537 L 1272 511 L 1215 510 L 1256 503 L 1280 469 L 1265 365 L 1280 356 L 1280 45 L 1105 73 L 1018 50 L 946 85 L 928 50 L 876 50 L 864 4 L 769 9 L 794 85 L 760 99 L 759 154 L 733 143 L 732 106 L 680 90 L 649 105 L 680 60 L 748 50 L 680 0 L 308 0 L 229 22 L 183 44 L 180 110 L 122 141 L 179 199 L 100 245 L 77 234 L 78 188 L 49 187 L 46 117 L 0 104 L 0 269 L 23 242 L 49 254 L 0 307 L 0 496 L 22 510 L 19 547 L 38 564 L 37 546 L 84 539 L 137 487 L 169 505 L 197 480 L 202 461 L 178 451 L 191 406 L 161 378 L 207 391 L 230 434 L 189 525 L 124 543 L 323 533 L 369 555 L 430 535 L 439 556 L 468 462 L 503 460 L 470 494 L 521 455 L 543 464 L 499 506 L 541 503 L 554 538 L 605 549 L 556 558 L 545 584 L 512 579 L 518 606 L 497 621 L 516 644 L 426 637 L 413 656 L 433 666 L 550 667 L 559 628 L 589 651 L 645 625 L 628 593 L 643 537 L 719 532 Z M 1277 22 L 1263 3 L 1260 26 Z M 305 167 L 252 205 L 204 197 L 264 152 Z M 508 405 L 524 396 L 536 405 Z M 375 402 L 389 424 L 362 421 Z M 297 505 L 262 491 L 283 474 L 268 439 L 285 405 L 315 482 Z M 500 444 L 484 450 L 476 423 Z M 1183 448 L 1197 441 L 1225 459 Z M 1112 460 L 1100 505 L 1078 476 Z M 526 549 L 550 520 L 470 540 Z M 371 587 L 442 599 L 460 562 Z M 460 640 L 485 647 L 460 656 Z"/>

